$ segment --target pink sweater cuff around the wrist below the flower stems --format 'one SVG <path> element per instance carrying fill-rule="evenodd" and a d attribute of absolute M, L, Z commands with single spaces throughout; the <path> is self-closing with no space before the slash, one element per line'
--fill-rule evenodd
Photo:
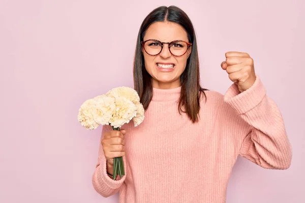
<path fill-rule="evenodd" d="M 126 160 L 125 160 L 125 157 L 123 157 L 125 176 L 122 176 L 122 178 L 117 176 L 116 180 L 113 180 L 107 174 L 107 160 L 106 160 L 106 158 L 104 156 L 102 156 L 101 159 L 102 159 L 101 163 L 103 163 L 103 167 L 100 167 L 101 168 L 101 176 L 100 177 L 102 178 L 103 182 L 108 187 L 110 187 L 112 189 L 119 188 L 126 179 Z"/>

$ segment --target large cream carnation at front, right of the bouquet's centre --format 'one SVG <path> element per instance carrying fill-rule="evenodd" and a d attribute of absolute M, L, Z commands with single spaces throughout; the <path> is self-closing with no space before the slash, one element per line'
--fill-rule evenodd
<path fill-rule="evenodd" d="M 115 110 L 109 123 L 113 127 L 121 127 L 137 115 L 137 107 L 125 97 L 115 98 Z"/>

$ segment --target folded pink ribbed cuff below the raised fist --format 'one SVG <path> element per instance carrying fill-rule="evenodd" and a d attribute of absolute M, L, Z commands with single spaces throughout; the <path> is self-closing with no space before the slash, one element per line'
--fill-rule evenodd
<path fill-rule="evenodd" d="M 238 114 L 244 114 L 256 107 L 266 96 L 266 90 L 259 76 L 254 84 L 246 91 L 239 92 L 238 86 L 232 84 L 225 93 L 224 100 Z"/>

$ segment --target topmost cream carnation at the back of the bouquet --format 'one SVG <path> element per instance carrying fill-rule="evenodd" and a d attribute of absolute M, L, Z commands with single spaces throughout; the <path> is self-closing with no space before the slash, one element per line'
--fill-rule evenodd
<path fill-rule="evenodd" d="M 134 104 L 140 103 L 140 97 L 136 90 L 131 87 L 116 87 L 106 93 L 107 96 L 114 96 L 115 98 L 125 97 L 131 100 Z"/>

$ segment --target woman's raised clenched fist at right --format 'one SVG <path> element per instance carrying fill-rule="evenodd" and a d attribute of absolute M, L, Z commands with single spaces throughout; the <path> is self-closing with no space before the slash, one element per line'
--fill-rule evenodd
<path fill-rule="evenodd" d="M 227 71 L 240 92 L 249 89 L 256 80 L 254 61 L 248 53 L 227 52 L 226 61 L 221 63 L 221 67 Z"/>

